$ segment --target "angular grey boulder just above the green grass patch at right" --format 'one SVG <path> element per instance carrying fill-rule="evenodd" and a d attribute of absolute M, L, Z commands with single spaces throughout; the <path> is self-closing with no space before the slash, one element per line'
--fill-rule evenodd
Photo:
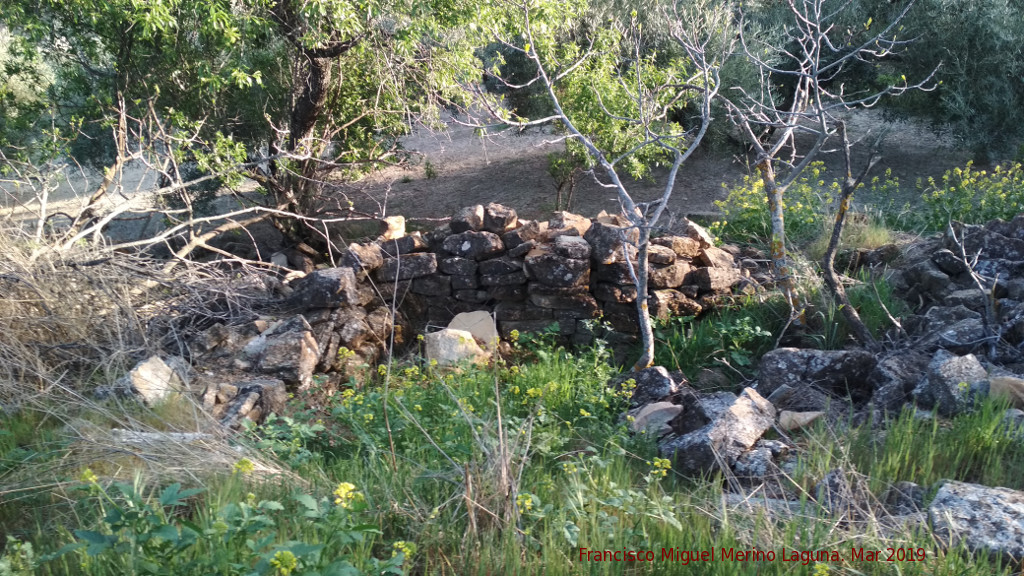
<path fill-rule="evenodd" d="M 953 416 L 988 395 L 988 372 L 973 354 L 958 357 L 940 349 L 912 394 L 918 406 Z"/>

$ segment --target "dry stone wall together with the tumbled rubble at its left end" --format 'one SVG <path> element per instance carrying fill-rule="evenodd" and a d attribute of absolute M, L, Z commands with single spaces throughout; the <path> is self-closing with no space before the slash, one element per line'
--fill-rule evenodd
<path fill-rule="evenodd" d="M 567 343 L 600 336 L 625 349 L 638 332 L 637 239 L 620 216 L 521 220 L 500 204 L 464 208 L 425 234 L 407 234 L 403 220 L 390 218 L 376 241 L 351 244 L 334 265 L 294 280 L 273 314 L 195 339 L 191 361 L 213 382 L 204 402 L 238 422 L 245 395 L 217 382 L 244 373 L 296 390 L 318 374 L 338 384 L 469 312 L 493 317 L 503 338 L 553 328 Z M 697 316 L 758 285 L 750 260 L 737 263 L 738 250 L 715 247 L 696 224 L 653 240 L 648 252 L 650 311 L 658 318 Z"/>

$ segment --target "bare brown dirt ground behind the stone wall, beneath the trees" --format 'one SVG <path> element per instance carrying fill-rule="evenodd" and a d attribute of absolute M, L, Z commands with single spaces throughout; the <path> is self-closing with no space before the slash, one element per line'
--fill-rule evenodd
<path fill-rule="evenodd" d="M 921 124 L 885 122 L 878 111 L 851 114 L 849 126 L 851 138 L 859 140 L 855 147 L 855 166 L 866 161 L 867 150 L 879 131 L 888 129 L 882 159 L 871 175 L 883 175 L 886 169 L 891 169 L 900 178 L 905 198 L 897 199 L 898 204 L 912 201 L 918 195 L 912 186 L 918 178 L 939 176 L 969 160 L 949 137 Z M 445 132 L 415 133 L 403 145 L 417 153 L 411 166 L 387 169 L 342 187 L 341 193 L 360 210 L 407 217 L 440 218 L 463 206 L 487 202 L 514 207 L 529 218 L 544 217 L 555 209 L 556 187 L 548 173 L 548 155 L 564 150 L 564 142 L 550 131 L 510 131 L 479 137 L 472 128 L 452 121 Z M 749 159 L 735 152 L 730 156 L 720 151 L 696 151 L 679 172 L 670 201 L 671 213 L 677 216 L 717 213 L 715 200 L 726 196 L 722 184 L 736 183 L 748 173 Z M 822 154 L 821 160 L 829 173 L 842 173 L 840 154 Z M 663 170 L 649 179 L 629 181 L 629 190 L 638 201 L 657 198 L 664 190 L 666 174 Z M 592 176 L 585 175 L 580 178 L 571 208 L 593 215 L 602 209 L 617 211 L 618 205 L 613 191 L 602 189 Z"/>

